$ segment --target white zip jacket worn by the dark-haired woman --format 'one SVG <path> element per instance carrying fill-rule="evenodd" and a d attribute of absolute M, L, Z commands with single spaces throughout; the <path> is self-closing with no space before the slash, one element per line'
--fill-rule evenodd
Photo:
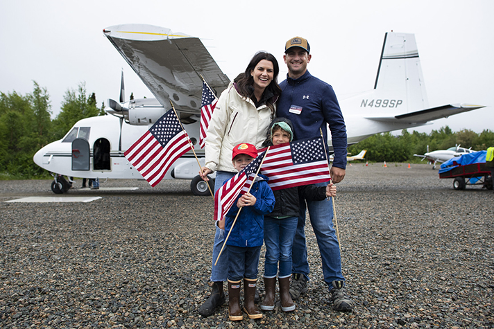
<path fill-rule="evenodd" d="M 233 82 L 221 93 L 207 128 L 205 166 L 215 170 L 237 172 L 232 164 L 232 150 L 239 143 L 261 148 L 275 111 L 266 105 L 257 109 L 250 98 L 241 96 Z"/>

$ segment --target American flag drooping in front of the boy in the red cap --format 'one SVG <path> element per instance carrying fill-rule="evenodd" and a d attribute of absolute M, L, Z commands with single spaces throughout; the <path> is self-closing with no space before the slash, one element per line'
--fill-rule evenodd
<path fill-rule="evenodd" d="M 246 168 L 230 178 L 216 191 L 214 194 L 214 220 L 222 220 L 232 207 L 232 204 L 235 202 L 238 195 L 240 193 L 245 194 L 248 192 L 265 153 L 266 151 L 257 155 L 257 158 L 250 162 Z"/>

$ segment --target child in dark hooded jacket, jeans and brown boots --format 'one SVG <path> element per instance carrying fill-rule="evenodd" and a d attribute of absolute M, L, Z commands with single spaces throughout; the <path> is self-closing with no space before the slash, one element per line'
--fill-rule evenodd
<path fill-rule="evenodd" d="M 288 143 L 293 139 L 293 126 L 287 118 L 275 118 L 268 131 L 265 146 Z M 266 296 L 261 310 L 274 310 L 276 275 L 280 284 L 281 309 L 295 310 L 289 294 L 291 276 L 291 247 L 298 224 L 299 196 L 311 200 L 323 200 L 336 195 L 336 186 L 306 185 L 273 191 L 276 199 L 273 211 L 264 217 L 264 288 Z M 279 272 L 278 272 L 279 263 Z"/>

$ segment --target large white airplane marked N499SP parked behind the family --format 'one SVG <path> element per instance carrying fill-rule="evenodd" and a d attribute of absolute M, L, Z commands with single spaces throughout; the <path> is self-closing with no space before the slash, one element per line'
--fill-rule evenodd
<path fill-rule="evenodd" d="M 122 82 L 119 102 L 108 100 L 106 112 L 112 115 L 78 121 L 63 139 L 39 150 L 33 160 L 52 173 L 51 189 L 54 193 L 67 192 L 71 181 L 65 176 L 142 179 L 123 152 L 171 108 L 171 100 L 191 137 L 198 160 L 193 152 L 187 152 L 173 163 L 164 179 L 192 179 L 194 195 L 209 195 L 207 184 L 197 175 L 197 162 L 201 166 L 204 163 L 204 150 L 197 143 L 202 78 L 216 96 L 228 87 L 230 79 L 198 37 L 147 24 L 110 26 L 103 29 L 103 35 L 155 99 L 125 102 Z M 373 134 L 418 127 L 438 118 L 483 107 L 443 105 L 428 108 L 415 37 L 393 32 L 384 37 L 374 89 L 343 99 L 340 105 L 349 145 Z M 332 150 L 331 135 L 328 136 L 328 147 Z M 210 179 L 210 186 L 212 184 L 214 179 Z"/>

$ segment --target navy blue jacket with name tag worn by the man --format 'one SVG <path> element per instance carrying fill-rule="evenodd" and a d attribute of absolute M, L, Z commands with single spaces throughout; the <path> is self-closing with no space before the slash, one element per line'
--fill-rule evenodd
<path fill-rule="evenodd" d="M 276 115 L 289 118 L 293 123 L 293 140 L 321 136 L 327 141 L 326 123 L 329 123 L 334 151 L 333 166 L 346 169 L 346 126 L 333 88 L 306 71 L 298 79 L 289 78 L 280 83 L 282 94 L 278 99 Z M 300 109 L 290 112 L 295 105 Z"/>

